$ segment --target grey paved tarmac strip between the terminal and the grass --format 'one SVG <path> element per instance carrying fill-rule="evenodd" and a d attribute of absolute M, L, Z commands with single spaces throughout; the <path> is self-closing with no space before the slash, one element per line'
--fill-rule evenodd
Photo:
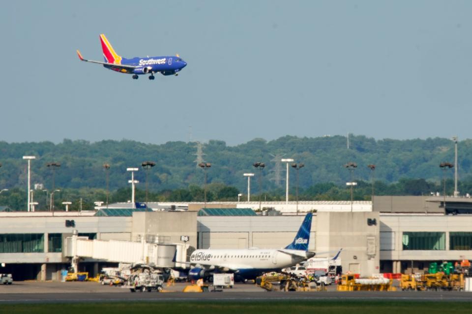
<path fill-rule="evenodd" d="M 254 284 L 236 284 L 217 292 L 184 293 L 187 284 L 164 287 L 164 292 L 131 292 L 128 288 L 102 286 L 95 282 L 14 282 L 0 285 L 0 303 L 80 303 L 80 302 L 169 302 L 169 301 L 273 301 L 273 300 L 388 300 L 472 302 L 472 292 L 464 291 L 265 291 Z M 210 287 L 210 290 L 212 287 Z"/>

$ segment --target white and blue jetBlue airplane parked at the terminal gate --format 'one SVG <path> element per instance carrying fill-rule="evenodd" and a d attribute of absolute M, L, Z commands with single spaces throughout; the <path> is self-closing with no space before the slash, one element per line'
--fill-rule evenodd
<path fill-rule="evenodd" d="M 213 273 L 233 272 L 237 279 L 255 279 L 266 272 L 280 271 L 313 256 L 308 251 L 313 214 L 307 213 L 292 243 L 283 249 L 207 249 L 190 256 L 195 266 L 188 272 L 190 280 L 211 278 Z"/>

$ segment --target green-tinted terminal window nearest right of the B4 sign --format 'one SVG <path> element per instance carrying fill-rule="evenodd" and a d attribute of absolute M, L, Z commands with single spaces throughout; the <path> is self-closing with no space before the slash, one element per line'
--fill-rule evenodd
<path fill-rule="evenodd" d="M 404 232 L 404 250 L 445 250 L 446 234 L 444 232 Z"/>

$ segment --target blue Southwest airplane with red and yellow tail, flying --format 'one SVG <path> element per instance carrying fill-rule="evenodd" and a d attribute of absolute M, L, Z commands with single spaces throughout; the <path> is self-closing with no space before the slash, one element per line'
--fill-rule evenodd
<path fill-rule="evenodd" d="M 141 74 L 149 74 L 149 79 L 154 79 L 154 73 L 161 73 L 166 76 L 177 76 L 177 72 L 187 65 L 178 54 L 176 56 L 147 56 L 146 58 L 134 57 L 132 59 L 126 59 L 115 52 L 104 34 L 100 35 L 100 42 L 102 44 L 105 62 L 84 59 L 80 51 L 77 51 L 79 59 L 81 61 L 103 64 L 105 68 L 113 71 L 132 74 L 134 79 L 138 79 L 138 75 Z"/>

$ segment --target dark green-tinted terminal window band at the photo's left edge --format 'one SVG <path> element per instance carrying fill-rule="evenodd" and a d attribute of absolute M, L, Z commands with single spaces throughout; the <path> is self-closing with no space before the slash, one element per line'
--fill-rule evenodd
<path fill-rule="evenodd" d="M 0 253 L 43 253 L 44 234 L 0 234 Z"/>

